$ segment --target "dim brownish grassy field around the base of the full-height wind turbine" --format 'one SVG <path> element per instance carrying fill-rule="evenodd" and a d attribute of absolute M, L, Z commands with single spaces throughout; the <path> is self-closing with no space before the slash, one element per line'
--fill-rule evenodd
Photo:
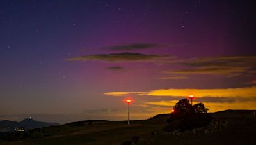
<path fill-rule="evenodd" d="M 28 139 L 1 144 L 121 144 L 132 137 L 147 137 L 155 130 L 162 130 L 167 117 L 154 120 L 93 121 L 92 124 L 70 123 L 56 127 L 42 128 L 31 133 Z M 34 138 L 35 137 L 35 138 Z"/>

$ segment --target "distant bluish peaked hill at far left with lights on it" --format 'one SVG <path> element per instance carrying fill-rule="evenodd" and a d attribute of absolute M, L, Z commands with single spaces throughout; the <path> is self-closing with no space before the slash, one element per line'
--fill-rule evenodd
<path fill-rule="evenodd" d="M 33 128 L 49 127 L 51 125 L 59 125 L 58 123 L 47 123 L 26 118 L 20 122 L 2 120 L 0 121 L 0 132 L 14 132 L 17 128 L 31 130 Z"/>

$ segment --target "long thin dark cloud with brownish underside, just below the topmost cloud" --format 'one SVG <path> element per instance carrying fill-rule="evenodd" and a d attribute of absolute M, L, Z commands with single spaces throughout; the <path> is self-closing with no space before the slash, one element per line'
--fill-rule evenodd
<path fill-rule="evenodd" d="M 161 59 L 167 56 L 160 55 L 145 55 L 142 53 L 111 53 L 111 54 L 100 54 L 100 55 L 83 55 L 80 57 L 72 57 L 67 60 L 99 60 L 105 62 L 125 62 L 125 61 L 153 61 L 156 59 Z"/>

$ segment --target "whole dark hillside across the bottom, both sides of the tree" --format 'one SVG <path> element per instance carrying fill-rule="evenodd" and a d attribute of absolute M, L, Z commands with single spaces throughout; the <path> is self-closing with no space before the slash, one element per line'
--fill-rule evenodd
<path fill-rule="evenodd" d="M 211 125 L 186 132 L 164 132 L 168 115 L 159 115 L 132 121 L 131 125 L 126 121 L 98 120 L 46 127 L 0 144 L 255 144 L 253 111 L 221 111 L 211 116 Z"/>

